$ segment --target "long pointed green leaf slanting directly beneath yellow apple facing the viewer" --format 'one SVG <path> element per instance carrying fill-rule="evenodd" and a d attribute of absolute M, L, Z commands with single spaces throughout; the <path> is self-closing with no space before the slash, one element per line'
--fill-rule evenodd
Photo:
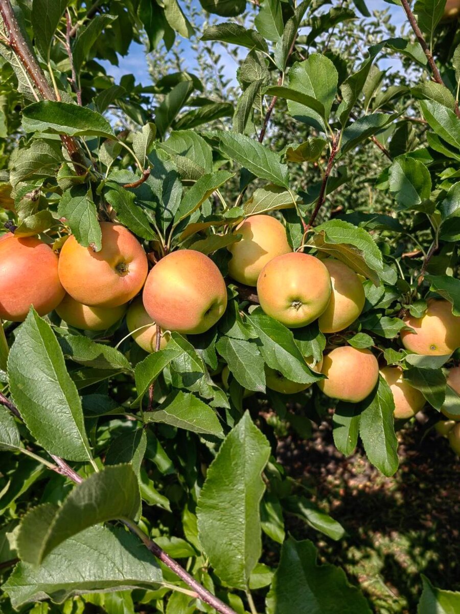
<path fill-rule="evenodd" d="M 270 368 L 299 384 L 312 384 L 321 379 L 305 363 L 289 328 L 264 314 L 260 308 L 251 313 L 249 321 L 258 333 L 259 350 Z"/>

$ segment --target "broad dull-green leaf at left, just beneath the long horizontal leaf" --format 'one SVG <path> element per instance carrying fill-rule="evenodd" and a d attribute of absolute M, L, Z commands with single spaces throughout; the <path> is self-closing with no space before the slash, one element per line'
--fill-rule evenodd
<path fill-rule="evenodd" d="M 34 139 L 26 149 L 13 149 L 9 163 L 10 184 L 15 187 L 20 181 L 55 176 L 63 161 L 60 141 Z"/>

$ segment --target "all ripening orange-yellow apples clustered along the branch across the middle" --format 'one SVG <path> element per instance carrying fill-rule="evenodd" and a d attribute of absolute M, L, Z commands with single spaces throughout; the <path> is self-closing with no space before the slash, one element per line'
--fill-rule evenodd
<path fill-rule="evenodd" d="M 54 309 L 72 327 L 99 331 L 117 324 L 126 314 L 136 343 L 153 352 L 157 325 L 164 333 L 163 347 L 167 332 L 204 333 L 223 315 L 226 283 L 207 255 L 191 249 L 173 251 L 149 273 L 147 255 L 127 228 L 102 222 L 101 233 L 100 251 L 83 247 L 70 236 L 59 256 L 38 238 L 2 236 L 1 319 L 21 322 L 33 305 L 40 315 Z M 234 233 L 241 237 L 228 248 L 232 255 L 229 276 L 256 287 L 267 315 L 288 328 L 317 320 L 321 332 L 337 333 L 361 314 L 366 301 L 362 278 L 340 260 L 293 252 L 285 227 L 275 217 L 248 217 Z M 409 328 L 401 332 L 401 341 L 408 351 L 447 356 L 460 347 L 460 317 L 453 315 L 448 301 L 431 298 L 422 317 L 408 316 L 405 323 Z M 316 364 L 312 357 L 305 361 L 325 376 L 318 386 L 328 397 L 359 403 L 374 390 L 380 373 L 393 393 L 395 418 L 410 418 L 425 404 L 421 392 L 404 381 L 399 367 L 379 369 L 369 349 L 342 345 Z M 266 383 L 283 394 L 311 385 L 289 381 L 267 366 Z M 448 384 L 460 394 L 460 367 L 450 370 Z M 460 424 L 454 424 L 460 416 L 444 413 L 452 427 L 448 432 L 451 443 L 454 449 L 456 445 L 460 448 Z"/>

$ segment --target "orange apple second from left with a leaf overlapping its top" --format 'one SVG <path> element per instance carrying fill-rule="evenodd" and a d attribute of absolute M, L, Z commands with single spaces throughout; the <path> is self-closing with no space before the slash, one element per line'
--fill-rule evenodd
<path fill-rule="evenodd" d="M 118 307 L 144 286 L 148 264 L 142 245 L 131 232 L 112 222 L 101 222 L 102 249 L 94 252 L 71 236 L 59 255 L 61 284 L 79 303 Z"/>

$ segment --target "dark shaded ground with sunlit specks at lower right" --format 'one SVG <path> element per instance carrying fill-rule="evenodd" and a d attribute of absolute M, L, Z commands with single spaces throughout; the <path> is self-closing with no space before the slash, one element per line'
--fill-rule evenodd
<path fill-rule="evenodd" d="M 399 432 L 401 466 L 382 476 L 358 449 L 345 459 L 328 423 L 313 440 L 289 435 L 278 446 L 288 474 L 316 489 L 316 499 L 342 523 L 339 543 L 316 538 L 323 561 L 343 567 L 378 614 L 412 614 L 421 573 L 435 586 L 460 590 L 460 459 L 447 440 L 423 435 L 420 422 Z M 312 530 L 289 519 L 297 539 Z"/>

